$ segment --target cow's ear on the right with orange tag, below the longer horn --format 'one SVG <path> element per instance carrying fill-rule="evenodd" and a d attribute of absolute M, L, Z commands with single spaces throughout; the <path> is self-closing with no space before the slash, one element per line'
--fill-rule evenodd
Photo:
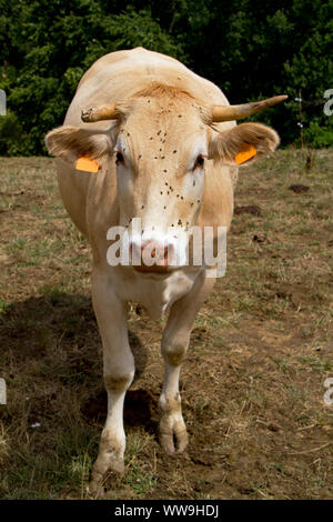
<path fill-rule="evenodd" d="M 232 165 L 248 165 L 272 152 L 279 135 L 261 123 L 241 123 L 219 132 L 210 142 L 209 158 Z"/>

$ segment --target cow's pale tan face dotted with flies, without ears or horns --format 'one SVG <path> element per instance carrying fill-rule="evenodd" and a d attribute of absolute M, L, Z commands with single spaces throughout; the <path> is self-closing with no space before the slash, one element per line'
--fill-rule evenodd
<path fill-rule="evenodd" d="M 189 100 L 171 103 L 139 99 L 114 145 L 120 224 L 129 227 L 133 249 L 152 247 L 158 257 L 168 247 L 164 268 L 185 262 L 189 230 L 204 198 L 209 153 L 209 132 L 198 108 Z M 140 231 L 138 221 L 132 225 L 135 218 Z M 152 270 L 162 271 L 161 264 Z"/>

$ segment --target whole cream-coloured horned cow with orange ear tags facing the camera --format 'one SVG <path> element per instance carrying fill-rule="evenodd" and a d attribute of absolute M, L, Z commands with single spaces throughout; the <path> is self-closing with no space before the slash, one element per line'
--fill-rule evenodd
<path fill-rule="evenodd" d="M 152 319 L 168 312 L 160 443 L 173 455 L 188 445 L 180 368 L 196 312 L 214 284 L 213 264 L 185 262 L 193 244 L 190 229 L 213 228 L 215 247 L 218 228 L 229 230 L 239 167 L 268 155 L 280 141 L 266 126 L 236 120 L 285 98 L 230 106 L 215 84 L 175 59 L 135 48 L 95 61 L 79 82 L 63 126 L 46 137 L 64 207 L 92 250 L 92 303 L 108 392 L 92 494 L 103 494 L 108 471 L 124 471 L 123 402 L 135 371 L 129 302 Z M 134 220 L 141 223 L 135 233 Z M 129 263 L 108 260 L 114 227 L 128 232 Z M 145 249 L 155 263 L 145 262 Z"/>

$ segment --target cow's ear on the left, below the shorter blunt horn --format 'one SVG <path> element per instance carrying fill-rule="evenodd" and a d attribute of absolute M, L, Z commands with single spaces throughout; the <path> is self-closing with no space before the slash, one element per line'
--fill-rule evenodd
<path fill-rule="evenodd" d="M 111 132 L 69 126 L 50 131 L 46 144 L 50 154 L 74 164 L 80 159 L 98 164 L 113 151 Z"/>

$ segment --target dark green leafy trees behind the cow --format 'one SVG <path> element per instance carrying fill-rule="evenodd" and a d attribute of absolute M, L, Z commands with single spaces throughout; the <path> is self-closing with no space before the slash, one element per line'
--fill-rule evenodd
<path fill-rule="evenodd" d="M 102 54 L 137 46 L 170 54 L 239 103 L 286 93 L 256 120 L 282 144 L 333 143 L 323 112 L 333 88 L 332 0 L 0 0 L 0 154 L 44 154 L 83 72 Z M 330 83 L 331 82 L 331 83 Z"/>

